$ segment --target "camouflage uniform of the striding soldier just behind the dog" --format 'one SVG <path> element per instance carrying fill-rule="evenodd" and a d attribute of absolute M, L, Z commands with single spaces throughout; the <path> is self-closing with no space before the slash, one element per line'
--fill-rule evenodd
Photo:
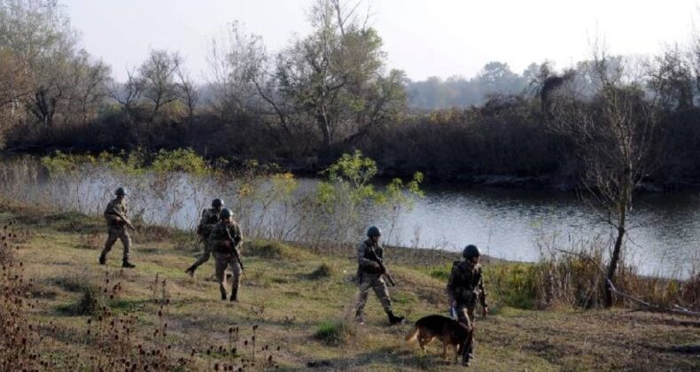
<path fill-rule="evenodd" d="M 389 298 L 389 291 L 386 288 L 386 283 L 382 277 L 382 269 L 374 260 L 369 260 L 369 252 L 374 248 L 377 252 L 377 257 L 384 258 L 384 250 L 379 244 L 373 243 L 370 239 L 362 241 L 357 246 L 357 282 L 360 286 L 360 294 L 355 305 L 355 319 L 358 322 L 364 321 L 364 306 L 367 304 L 369 290 L 373 289 L 379 302 L 382 303 L 384 311 L 387 314 L 392 314 L 392 299 Z"/>

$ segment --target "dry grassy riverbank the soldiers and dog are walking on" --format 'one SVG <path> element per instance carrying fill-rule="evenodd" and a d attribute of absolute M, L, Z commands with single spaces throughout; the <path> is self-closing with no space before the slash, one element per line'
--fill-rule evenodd
<path fill-rule="evenodd" d="M 5 261 L 3 280 L 26 288 L 18 291 L 25 311 L 13 319 L 26 316 L 31 329 L 15 329 L 33 344 L 21 346 L 19 339 L 18 347 L 27 348 L 27 360 L 32 353 L 51 360 L 50 368 L 123 370 L 126 363 L 143 362 L 181 370 L 227 363 L 248 369 L 453 369 L 439 359 L 438 343 L 427 354 L 405 345 L 411 326 L 386 326 L 376 298 L 369 300 L 365 326 L 348 322 L 356 292 L 349 250 L 319 255 L 303 246 L 246 242 L 240 303 L 231 305 L 219 299 L 211 280 L 213 262 L 194 278 L 184 274 L 198 254 L 188 233 L 144 227 L 134 236 L 136 269 L 121 270 L 119 244 L 108 266 L 97 265 L 105 239 L 98 219 L 4 207 L 0 223 L 10 221 L 4 236 L 16 249 L 12 267 Z M 412 321 L 444 314 L 445 253 L 433 260 L 429 251 L 387 254 L 397 258 L 390 267 L 399 283 L 391 289 L 396 313 Z M 427 263 L 398 260 L 409 256 Z M 501 275 L 494 275 L 507 265 L 519 267 L 509 271 L 513 277 L 527 270 L 487 263 L 487 285 L 502 285 L 495 283 Z M 23 283 L 12 282 L 19 276 Z M 511 295 L 502 291 L 494 291 L 493 314 L 477 321 L 475 370 L 700 368 L 700 322 L 621 307 L 524 310 L 507 306 L 510 300 L 500 297 Z M 3 304 L 0 316 L 10 319 L 19 305 Z"/>

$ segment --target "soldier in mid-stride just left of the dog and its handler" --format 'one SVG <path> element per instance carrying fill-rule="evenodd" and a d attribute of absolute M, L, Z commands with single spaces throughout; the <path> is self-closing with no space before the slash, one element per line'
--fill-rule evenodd
<path fill-rule="evenodd" d="M 386 289 L 386 283 L 382 275 L 385 272 L 381 266 L 374 260 L 374 253 L 377 254 L 379 260 L 384 258 L 384 250 L 379 245 L 379 236 L 382 236 L 382 231 L 376 226 L 372 226 L 367 230 L 367 240 L 362 241 L 357 247 L 357 282 L 360 286 L 360 293 L 355 306 L 355 321 L 359 324 L 364 324 L 364 306 L 367 303 L 369 289 L 373 289 L 379 302 L 382 303 L 384 311 L 389 317 L 390 324 L 398 324 L 403 322 L 403 316 L 395 316 L 392 311 L 392 299 L 389 298 L 389 291 Z"/>

